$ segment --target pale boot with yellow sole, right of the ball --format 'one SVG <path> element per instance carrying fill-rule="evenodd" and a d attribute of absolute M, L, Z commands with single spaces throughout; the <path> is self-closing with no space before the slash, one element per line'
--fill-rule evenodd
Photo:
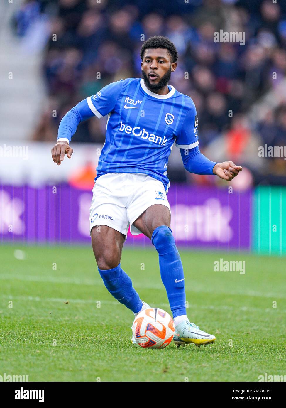
<path fill-rule="evenodd" d="M 206 346 L 215 341 L 215 336 L 200 330 L 199 326 L 190 323 L 189 320 L 183 320 L 175 327 L 173 337 L 177 347 L 186 346 L 186 344 L 194 343 L 197 347 Z"/>

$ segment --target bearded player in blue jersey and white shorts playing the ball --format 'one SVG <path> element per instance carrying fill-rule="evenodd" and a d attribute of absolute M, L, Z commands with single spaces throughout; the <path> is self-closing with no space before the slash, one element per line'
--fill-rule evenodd
<path fill-rule="evenodd" d="M 175 45 L 156 35 L 144 42 L 140 56 L 142 79 L 104 86 L 62 118 L 52 157 L 58 165 L 65 154 L 71 157 L 69 143 L 82 120 L 108 115 L 90 208 L 91 242 L 100 276 L 111 295 L 135 316 L 150 307 L 140 299 L 120 264 L 130 224 L 131 234 L 145 234 L 158 252 L 175 324 L 173 340 L 177 346 L 206 345 L 215 336 L 200 330 L 186 315 L 184 271 L 170 228 L 166 195 L 168 157 L 175 143 L 186 170 L 227 181 L 242 167 L 211 162 L 200 153 L 195 105 L 189 96 L 168 85 L 177 67 Z"/>

